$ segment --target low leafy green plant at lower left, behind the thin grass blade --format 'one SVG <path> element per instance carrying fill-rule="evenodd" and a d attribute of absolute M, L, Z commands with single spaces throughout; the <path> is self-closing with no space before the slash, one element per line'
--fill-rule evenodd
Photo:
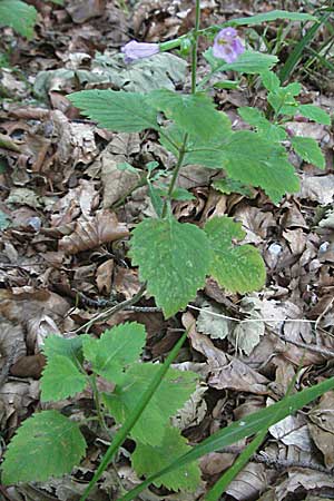
<path fill-rule="evenodd" d="M 139 363 L 145 341 L 145 328 L 137 323 L 126 323 L 106 331 L 99 340 L 88 335 L 72 340 L 49 336 L 45 345 L 48 363 L 41 379 L 42 402 L 57 402 L 90 387 L 96 402 L 96 419 L 109 435 L 107 415 L 112 415 L 117 424 L 124 425 L 127 418 L 134 414 L 136 419 L 131 420 L 130 428 L 125 425 L 119 445 L 128 433 L 136 441 L 132 464 L 139 475 L 156 473 L 166 461 L 190 450 L 180 432 L 169 424 L 169 418 L 195 391 L 198 379 L 189 371 L 169 369 L 181 343 L 165 364 Z M 88 364 L 89 374 L 86 370 Z M 155 380 L 156 391 L 151 395 L 149 389 L 151 399 L 148 402 L 146 386 Z M 114 391 L 107 391 L 112 384 Z M 97 389 L 104 385 L 106 391 L 98 392 Z M 110 438 L 115 446 L 117 435 Z M 164 458 L 166 448 L 168 456 Z M 24 421 L 9 445 L 2 464 L 2 481 L 29 482 L 60 477 L 79 464 L 85 450 L 86 441 L 77 423 L 58 411 L 41 411 Z M 50 456 L 52 462 L 47 461 Z M 191 464 L 181 468 L 178 473 L 165 475 L 163 482 L 169 489 L 193 490 L 198 480 L 199 469 Z"/>

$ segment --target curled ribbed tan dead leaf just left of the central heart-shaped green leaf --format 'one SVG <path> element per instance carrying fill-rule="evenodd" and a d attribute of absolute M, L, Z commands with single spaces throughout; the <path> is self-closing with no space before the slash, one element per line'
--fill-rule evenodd
<path fill-rule="evenodd" d="M 109 210 L 100 210 L 95 217 L 79 219 L 71 235 L 59 242 L 59 249 L 68 254 L 77 254 L 98 247 L 101 244 L 129 236 L 129 230 Z"/>

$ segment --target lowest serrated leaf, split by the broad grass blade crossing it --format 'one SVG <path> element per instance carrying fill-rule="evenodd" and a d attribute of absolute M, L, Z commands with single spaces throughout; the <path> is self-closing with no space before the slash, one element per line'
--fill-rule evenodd
<path fill-rule="evenodd" d="M 131 454 L 131 463 L 138 477 L 151 475 L 161 468 L 167 466 L 171 460 L 186 454 L 191 448 L 176 428 L 166 426 L 161 444 L 151 446 L 137 442 Z M 200 480 L 200 470 L 196 462 L 180 468 L 178 471 L 167 473 L 157 482 L 156 487 L 165 485 L 174 491 L 183 490 L 194 492 Z"/>

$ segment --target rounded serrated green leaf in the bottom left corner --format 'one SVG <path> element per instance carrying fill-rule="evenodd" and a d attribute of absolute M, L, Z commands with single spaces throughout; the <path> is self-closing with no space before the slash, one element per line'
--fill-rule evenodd
<path fill-rule="evenodd" d="M 2 482 L 45 482 L 70 473 L 85 455 L 79 425 L 57 411 L 42 411 L 23 422 L 4 455 Z"/>

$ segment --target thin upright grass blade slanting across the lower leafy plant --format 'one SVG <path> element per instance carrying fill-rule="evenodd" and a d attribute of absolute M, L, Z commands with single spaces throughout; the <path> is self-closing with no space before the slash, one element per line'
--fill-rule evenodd
<path fill-rule="evenodd" d="M 181 345 L 184 344 L 184 342 L 185 342 L 185 340 L 187 337 L 187 333 L 188 333 L 188 330 L 185 331 L 185 333 L 181 335 L 179 341 L 176 343 L 176 345 L 174 346 L 174 348 L 171 350 L 171 352 L 167 356 L 165 363 L 161 364 L 161 367 L 160 367 L 159 372 L 157 372 L 156 376 L 149 383 L 147 390 L 145 391 L 145 393 L 143 395 L 143 399 L 138 402 L 138 405 L 134 409 L 134 412 L 126 420 L 126 422 L 124 423 L 121 429 L 116 433 L 116 435 L 115 435 L 111 444 L 109 445 L 109 448 L 108 448 L 108 450 L 107 450 L 107 452 L 106 452 L 106 454 L 105 454 L 105 456 L 104 456 L 99 468 L 97 469 L 94 478 L 91 479 L 91 481 L 89 482 L 89 484 L 88 484 L 87 489 L 85 490 L 82 497 L 80 498 L 80 501 L 86 501 L 87 500 L 87 497 L 91 492 L 91 489 L 94 488 L 96 482 L 100 479 L 101 474 L 107 469 L 107 466 L 110 463 L 110 461 L 112 460 L 114 455 L 116 454 L 116 452 L 118 451 L 118 449 L 120 448 L 122 442 L 128 436 L 130 430 L 134 428 L 134 425 L 136 424 L 136 422 L 140 418 L 140 415 L 144 412 L 146 405 L 148 404 L 148 402 L 150 401 L 150 399 L 154 395 L 155 391 L 157 390 L 157 387 L 161 383 L 166 372 L 169 369 L 169 365 L 171 364 L 171 362 L 177 356 Z"/>

